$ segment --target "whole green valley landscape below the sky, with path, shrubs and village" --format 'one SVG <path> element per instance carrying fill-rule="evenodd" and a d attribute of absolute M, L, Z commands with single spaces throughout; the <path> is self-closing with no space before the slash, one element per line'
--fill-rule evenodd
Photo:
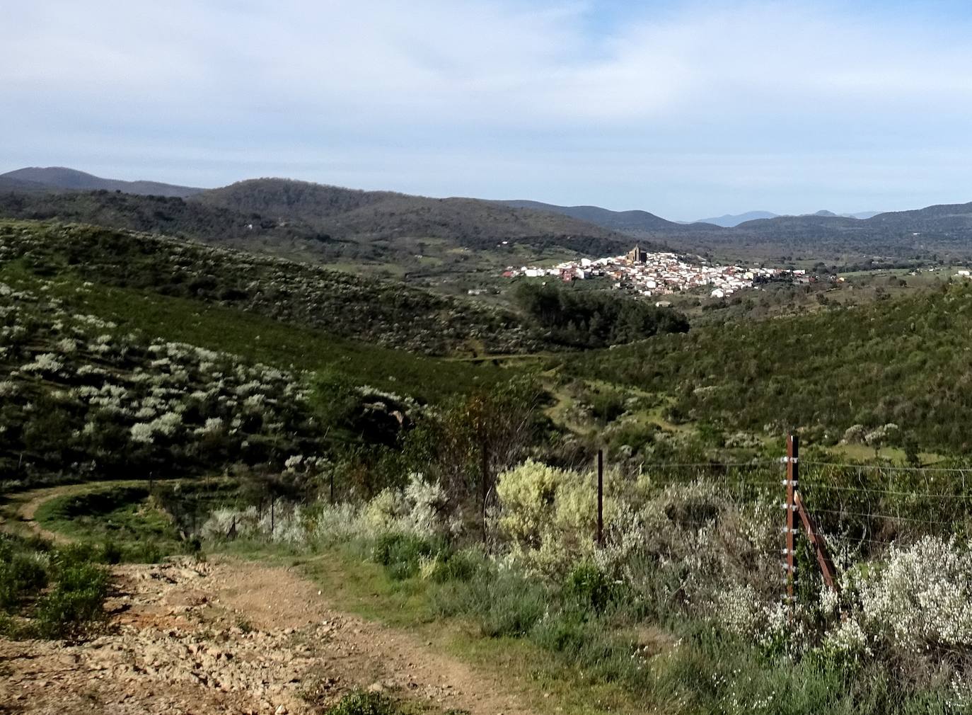
<path fill-rule="evenodd" d="M 960 711 L 966 594 L 916 608 L 972 573 L 959 253 L 720 265 L 693 236 L 729 230 L 533 204 L 28 189 L 2 706 Z M 819 541 L 781 579 L 788 436 Z"/>

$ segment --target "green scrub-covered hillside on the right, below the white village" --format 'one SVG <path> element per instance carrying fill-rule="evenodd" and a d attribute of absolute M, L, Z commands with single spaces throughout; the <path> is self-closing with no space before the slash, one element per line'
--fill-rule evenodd
<path fill-rule="evenodd" d="M 669 395 L 673 422 L 836 444 L 860 425 L 897 442 L 972 448 L 972 286 L 766 321 L 736 321 L 573 355 L 568 375 Z M 861 432 L 861 430 L 857 430 Z M 859 439 L 859 438 L 858 438 Z"/>

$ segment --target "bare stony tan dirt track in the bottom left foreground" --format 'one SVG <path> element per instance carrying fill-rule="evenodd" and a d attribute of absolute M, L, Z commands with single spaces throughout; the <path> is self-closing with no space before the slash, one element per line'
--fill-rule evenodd
<path fill-rule="evenodd" d="M 115 568 L 103 634 L 0 639 L 0 713 L 318 713 L 356 688 L 420 710 L 519 715 L 501 683 L 334 612 L 294 569 L 188 558 Z"/>

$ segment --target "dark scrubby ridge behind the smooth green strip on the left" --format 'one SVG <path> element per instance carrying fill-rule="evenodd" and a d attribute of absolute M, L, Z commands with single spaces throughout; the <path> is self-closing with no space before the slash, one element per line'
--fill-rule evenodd
<path fill-rule="evenodd" d="M 426 354 L 543 346 L 509 311 L 308 264 L 98 227 L 0 225 L 5 261 L 41 275 L 231 306 L 343 338 Z"/>

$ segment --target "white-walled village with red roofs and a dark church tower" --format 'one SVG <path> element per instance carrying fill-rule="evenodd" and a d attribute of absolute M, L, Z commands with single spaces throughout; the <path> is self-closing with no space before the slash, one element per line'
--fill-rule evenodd
<path fill-rule="evenodd" d="M 809 281 L 806 272 L 784 268 L 693 264 L 675 253 L 650 253 L 636 246 L 624 256 L 582 258 L 552 268 L 509 267 L 503 271 L 503 276 L 554 276 L 566 282 L 604 277 L 613 281 L 614 288 L 634 291 L 642 296 L 665 296 L 705 288 L 710 291 L 712 298 L 725 298 L 741 288 L 753 288 L 757 283 L 782 276 Z"/>

